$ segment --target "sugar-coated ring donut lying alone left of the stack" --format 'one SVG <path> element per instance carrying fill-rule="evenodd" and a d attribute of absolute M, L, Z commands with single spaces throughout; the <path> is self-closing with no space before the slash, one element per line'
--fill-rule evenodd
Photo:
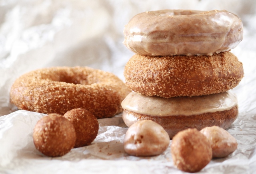
<path fill-rule="evenodd" d="M 28 72 L 14 82 L 10 102 L 27 111 L 58 113 L 86 109 L 97 119 L 122 112 L 130 93 L 114 74 L 89 67 L 50 67 Z"/>

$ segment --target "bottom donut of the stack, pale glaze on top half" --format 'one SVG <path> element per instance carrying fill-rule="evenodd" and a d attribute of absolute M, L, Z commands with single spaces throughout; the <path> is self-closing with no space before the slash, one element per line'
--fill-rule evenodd
<path fill-rule="evenodd" d="M 232 91 L 168 99 L 132 92 L 122 101 L 122 118 L 128 127 L 137 121 L 152 120 L 172 138 L 187 128 L 201 130 L 215 125 L 227 129 L 238 117 L 237 103 Z"/>

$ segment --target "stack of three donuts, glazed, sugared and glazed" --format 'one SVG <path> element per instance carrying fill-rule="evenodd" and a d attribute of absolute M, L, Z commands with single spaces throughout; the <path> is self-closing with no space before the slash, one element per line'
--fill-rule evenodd
<path fill-rule="evenodd" d="M 242 40 L 242 22 L 225 10 L 159 10 L 134 16 L 124 44 L 136 54 L 124 68 L 132 92 L 122 102 L 128 127 L 139 120 L 177 132 L 218 126 L 238 116 L 231 89 L 244 76 L 230 52 Z"/>

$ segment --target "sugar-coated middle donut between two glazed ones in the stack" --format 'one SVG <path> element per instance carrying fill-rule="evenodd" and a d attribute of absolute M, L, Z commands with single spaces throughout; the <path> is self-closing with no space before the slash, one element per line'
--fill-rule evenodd
<path fill-rule="evenodd" d="M 230 51 L 190 57 L 136 54 L 124 67 L 130 89 L 165 98 L 228 91 L 238 85 L 243 75 L 242 63 Z"/>

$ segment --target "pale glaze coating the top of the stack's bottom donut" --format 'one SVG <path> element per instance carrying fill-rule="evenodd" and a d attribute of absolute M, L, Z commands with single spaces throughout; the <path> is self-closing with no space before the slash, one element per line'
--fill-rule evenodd
<path fill-rule="evenodd" d="M 140 95 L 131 92 L 122 101 L 123 109 L 150 116 L 196 115 L 226 111 L 237 105 L 232 91 L 194 97 L 171 97 Z"/>

